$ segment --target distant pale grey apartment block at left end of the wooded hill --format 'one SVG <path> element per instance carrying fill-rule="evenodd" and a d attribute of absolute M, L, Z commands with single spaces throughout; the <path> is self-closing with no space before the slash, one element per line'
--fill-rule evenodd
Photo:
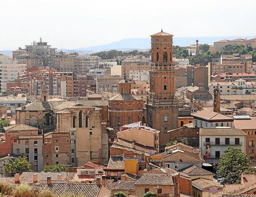
<path fill-rule="evenodd" d="M 88 73 L 90 69 L 95 69 L 99 66 L 101 58 L 98 56 L 82 56 L 81 57 L 81 71 L 82 73 Z"/>

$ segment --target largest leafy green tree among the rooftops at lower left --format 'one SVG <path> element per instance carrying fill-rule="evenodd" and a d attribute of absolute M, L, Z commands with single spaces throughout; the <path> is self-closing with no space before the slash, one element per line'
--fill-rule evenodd
<path fill-rule="evenodd" d="M 4 166 L 4 173 L 14 176 L 16 173 L 32 172 L 30 167 L 31 164 L 27 161 L 27 157 L 18 157 L 14 161 L 9 159 L 9 163 Z"/>

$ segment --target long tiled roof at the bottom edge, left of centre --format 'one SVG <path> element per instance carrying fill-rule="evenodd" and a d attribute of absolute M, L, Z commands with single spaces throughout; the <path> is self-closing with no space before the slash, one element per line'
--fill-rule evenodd
<path fill-rule="evenodd" d="M 82 184 L 82 183 L 51 183 L 46 185 L 42 191 L 49 190 L 53 194 L 61 196 L 73 193 L 76 195 L 84 195 L 86 197 L 97 197 L 101 190 L 101 185 Z"/>

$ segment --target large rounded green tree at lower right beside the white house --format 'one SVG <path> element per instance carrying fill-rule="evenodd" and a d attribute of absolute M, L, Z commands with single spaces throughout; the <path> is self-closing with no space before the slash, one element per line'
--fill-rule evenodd
<path fill-rule="evenodd" d="M 254 173 L 249 167 L 250 160 L 240 148 L 229 147 L 217 166 L 217 177 L 222 178 L 224 183 L 240 183 L 242 173 Z"/>

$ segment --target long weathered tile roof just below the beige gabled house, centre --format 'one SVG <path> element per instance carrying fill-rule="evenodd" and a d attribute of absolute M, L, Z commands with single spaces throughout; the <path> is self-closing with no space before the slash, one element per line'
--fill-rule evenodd
<path fill-rule="evenodd" d="M 131 151 L 138 154 L 150 155 L 157 152 L 156 148 L 143 146 L 142 144 L 134 143 L 134 148 L 132 148 L 132 142 L 128 140 L 117 139 L 114 141 L 113 145 L 110 148 L 119 148 L 127 151 Z"/>

